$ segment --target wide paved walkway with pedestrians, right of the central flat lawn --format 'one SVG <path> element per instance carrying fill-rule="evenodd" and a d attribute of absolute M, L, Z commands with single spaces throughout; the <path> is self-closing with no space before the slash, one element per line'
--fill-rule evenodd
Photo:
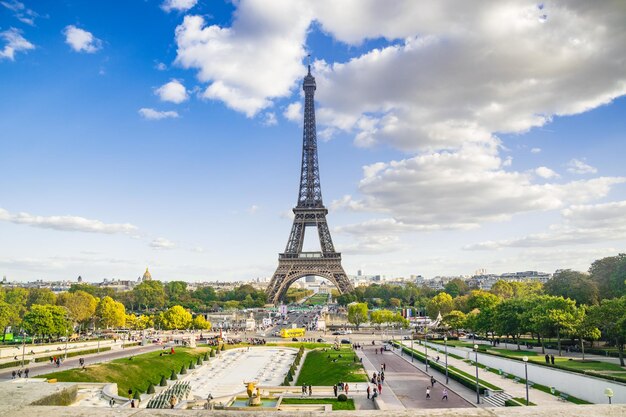
<path fill-rule="evenodd" d="M 377 347 L 380 348 L 380 346 Z M 445 386 L 441 383 L 435 383 L 435 386 L 431 387 L 431 399 L 426 399 L 426 388 L 431 386 L 430 376 L 393 352 L 385 351 L 380 354 L 378 351 L 376 354 L 373 347 L 367 346 L 359 351 L 359 354 L 364 356 L 363 362 L 370 377 L 374 369 L 379 371 L 382 363 L 386 365 L 381 399 L 387 400 L 387 397 L 392 397 L 392 400 L 387 400 L 390 405 L 396 405 L 398 401 L 407 409 L 472 407 L 470 402 L 454 392 L 450 386 L 448 386 L 448 401 L 442 400 L 441 393 Z M 367 369 L 367 362 L 373 366 L 373 369 Z M 393 400 L 393 397 L 397 400 Z"/>

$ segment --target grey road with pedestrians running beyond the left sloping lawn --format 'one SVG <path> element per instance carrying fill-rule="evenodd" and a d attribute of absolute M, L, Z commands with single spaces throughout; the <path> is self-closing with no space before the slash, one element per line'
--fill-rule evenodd
<path fill-rule="evenodd" d="M 119 349 L 119 350 L 118 349 L 109 350 L 106 352 L 85 355 L 82 357 L 85 359 L 85 365 L 89 365 L 89 364 L 98 363 L 98 362 L 108 362 L 108 361 L 112 361 L 113 359 L 126 358 L 129 356 L 135 356 L 141 353 L 153 352 L 153 351 L 161 350 L 161 349 L 163 349 L 162 345 L 149 344 L 147 346 L 132 347 L 132 348 L 126 348 L 126 349 Z M 47 362 L 47 361 L 29 364 L 26 367 L 30 370 L 29 376 L 34 377 L 37 375 L 48 374 L 51 372 L 63 371 L 63 370 L 72 369 L 72 368 L 79 368 L 80 367 L 78 363 L 79 359 L 80 359 L 79 356 L 67 358 L 59 368 L 57 368 L 55 365 L 51 365 L 50 362 Z M 17 370 L 17 368 L 9 368 L 9 369 L 1 370 L 0 381 L 11 379 L 11 374 L 14 370 Z"/>

